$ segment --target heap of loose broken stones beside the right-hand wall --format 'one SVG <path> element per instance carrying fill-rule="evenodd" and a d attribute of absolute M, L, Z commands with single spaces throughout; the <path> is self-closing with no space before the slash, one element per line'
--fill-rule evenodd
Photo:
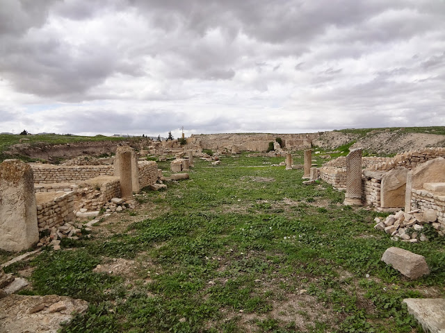
<path fill-rule="evenodd" d="M 375 218 L 377 222 L 374 225 L 376 230 L 384 230 L 387 234 L 391 234 L 391 239 L 416 243 L 417 241 L 428 241 L 426 235 L 422 232 L 425 223 L 431 223 L 432 226 L 439 230 L 440 223 L 428 221 L 428 216 L 425 216 L 420 210 L 413 210 L 411 212 L 403 212 L 403 210 L 396 212 L 396 214 L 389 215 L 385 220 L 380 221 L 378 217 Z M 443 235 L 442 231 L 439 234 Z"/>

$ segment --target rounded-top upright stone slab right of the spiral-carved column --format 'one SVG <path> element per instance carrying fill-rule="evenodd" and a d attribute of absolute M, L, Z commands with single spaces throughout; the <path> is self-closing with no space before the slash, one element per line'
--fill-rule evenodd
<path fill-rule="evenodd" d="M 398 208 L 405 205 L 407 169 L 393 169 L 382 176 L 380 207 Z"/>

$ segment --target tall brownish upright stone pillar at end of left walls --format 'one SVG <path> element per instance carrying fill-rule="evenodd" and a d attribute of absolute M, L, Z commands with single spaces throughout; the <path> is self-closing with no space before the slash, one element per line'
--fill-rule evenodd
<path fill-rule="evenodd" d="M 118 146 L 114 159 L 114 175 L 120 178 L 120 196 L 128 198 L 133 195 L 133 149 L 129 146 Z M 136 168 L 137 168 L 136 164 Z"/>

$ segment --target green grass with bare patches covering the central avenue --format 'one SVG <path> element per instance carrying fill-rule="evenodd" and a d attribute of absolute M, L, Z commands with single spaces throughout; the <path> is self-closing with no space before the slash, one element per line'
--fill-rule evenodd
<path fill-rule="evenodd" d="M 401 300 L 445 296 L 444 239 L 395 244 L 373 229 L 385 214 L 271 166 L 284 157 L 221 160 L 195 159 L 190 180 L 8 271 L 33 270 L 22 293 L 90 302 L 63 332 L 422 332 Z M 431 274 L 409 281 L 380 262 L 395 245 Z"/>

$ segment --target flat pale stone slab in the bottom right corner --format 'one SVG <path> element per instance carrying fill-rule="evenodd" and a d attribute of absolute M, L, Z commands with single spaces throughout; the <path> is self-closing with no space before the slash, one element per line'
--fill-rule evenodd
<path fill-rule="evenodd" d="M 445 332 L 444 298 L 405 298 L 403 302 L 425 332 Z"/>

